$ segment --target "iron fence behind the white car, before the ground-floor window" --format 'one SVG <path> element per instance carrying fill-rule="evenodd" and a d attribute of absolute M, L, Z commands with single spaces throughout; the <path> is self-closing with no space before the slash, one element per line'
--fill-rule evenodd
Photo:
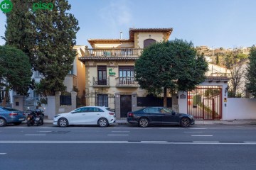
<path fill-rule="evenodd" d="M 106 106 L 114 109 L 114 94 L 104 91 L 87 91 L 85 93 L 86 106 Z"/>

